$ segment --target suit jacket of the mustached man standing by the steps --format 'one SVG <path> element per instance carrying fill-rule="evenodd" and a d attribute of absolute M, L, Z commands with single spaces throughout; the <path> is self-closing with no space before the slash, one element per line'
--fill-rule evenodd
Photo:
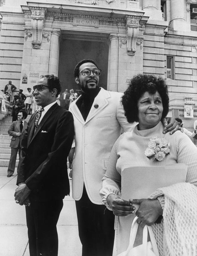
<path fill-rule="evenodd" d="M 15 147 L 16 148 L 16 147 L 19 146 L 19 144 L 20 144 L 20 147 L 21 147 L 21 141 L 22 141 L 23 134 L 24 134 L 24 131 L 25 131 L 26 128 L 27 128 L 27 122 L 26 121 L 24 121 L 22 132 L 20 131 L 20 121 L 12 122 L 12 124 L 10 125 L 10 127 L 8 129 L 8 134 L 10 136 L 13 136 L 11 138 L 10 147 Z M 21 132 L 22 135 L 21 136 L 16 136 L 17 132 Z"/>

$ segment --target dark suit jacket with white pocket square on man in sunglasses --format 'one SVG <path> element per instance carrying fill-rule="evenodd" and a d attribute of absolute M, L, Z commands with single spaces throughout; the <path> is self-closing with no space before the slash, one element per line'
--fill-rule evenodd
<path fill-rule="evenodd" d="M 36 131 L 35 118 L 36 113 L 23 135 L 17 185 L 27 184 L 30 200 L 63 199 L 70 193 L 67 156 L 74 136 L 73 115 L 55 103 Z"/>

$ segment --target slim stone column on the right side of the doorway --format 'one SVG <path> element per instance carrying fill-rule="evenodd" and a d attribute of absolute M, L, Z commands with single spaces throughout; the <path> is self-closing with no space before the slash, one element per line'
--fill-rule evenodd
<path fill-rule="evenodd" d="M 117 92 L 118 89 L 118 35 L 110 35 L 110 77 L 107 90 Z"/>

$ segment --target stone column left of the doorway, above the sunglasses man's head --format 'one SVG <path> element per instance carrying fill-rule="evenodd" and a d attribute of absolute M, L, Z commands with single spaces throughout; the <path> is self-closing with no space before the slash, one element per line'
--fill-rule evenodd
<path fill-rule="evenodd" d="M 58 75 L 58 64 L 59 64 L 59 31 L 51 32 L 50 40 L 50 54 L 49 54 L 49 74 Z"/>

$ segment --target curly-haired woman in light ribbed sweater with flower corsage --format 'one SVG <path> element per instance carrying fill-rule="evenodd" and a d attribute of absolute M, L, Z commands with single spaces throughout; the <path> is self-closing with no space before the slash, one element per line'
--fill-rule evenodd
<path fill-rule="evenodd" d="M 189 252 L 196 255 L 197 206 L 195 204 L 197 201 L 196 203 L 189 201 L 191 198 L 197 200 L 197 149 L 187 135 L 180 131 L 173 135 L 162 133 L 164 127 L 161 118 L 167 115 L 169 108 L 167 85 L 161 77 L 139 74 L 131 80 L 129 88 L 122 97 L 122 104 L 127 121 L 129 123 L 136 121 L 138 124 L 132 132 L 123 133 L 115 142 L 106 174 L 102 179 L 100 195 L 103 203 L 116 215 L 113 256 L 126 251 L 135 215 L 138 216 L 137 223 L 140 225 L 134 246 L 142 243 L 142 229 L 147 224 L 152 225 L 160 256 L 189 255 Z M 159 144 L 163 143 L 165 146 L 163 151 L 156 147 L 154 137 L 158 138 L 156 142 L 160 141 Z M 148 150 L 147 147 L 149 147 Z M 154 150 L 156 154 L 149 160 L 147 157 L 153 157 Z M 160 189 L 152 195 L 151 199 L 130 201 L 121 199 L 121 167 L 123 165 L 161 166 L 176 163 L 188 165 L 186 177 L 188 183 L 178 183 L 172 187 Z M 176 202 L 171 198 L 173 196 L 177 197 Z M 134 214 L 135 207 L 132 203 L 139 204 L 136 214 Z M 168 207 L 168 205 L 173 206 Z M 177 214 L 175 214 L 176 211 Z M 186 222 L 185 216 L 189 221 Z M 161 221 L 162 217 L 164 219 Z M 182 226 L 180 221 L 186 222 L 182 232 L 179 232 Z M 164 227 L 165 236 L 163 237 Z M 176 231 L 176 234 L 169 227 L 173 227 L 173 232 Z M 189 230 L 187 237 L 180 237 L 180 234 L 187 233 L 186 230 Z"/>

